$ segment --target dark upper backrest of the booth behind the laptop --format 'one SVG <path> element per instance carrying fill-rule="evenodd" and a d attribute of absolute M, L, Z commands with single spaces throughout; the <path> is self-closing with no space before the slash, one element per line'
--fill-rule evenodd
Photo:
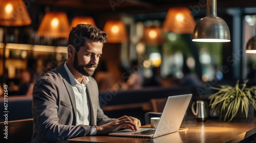
<path fill-rule="evenodd" d="M 190 87 L 150 87 L 139 90 L 124 91 L 105 91 L 99 93 L 99 102 L 101 107 L 109 107 L 113 105 L 136 105 L 137 103 L 148 103 L 151 99 L 167 98 L 179 94 L 188 94 L 192 90 Z M 122 108 L 120 106 L 120 108 Z M 116 108 L 118 110 L 119 108 Z"/>

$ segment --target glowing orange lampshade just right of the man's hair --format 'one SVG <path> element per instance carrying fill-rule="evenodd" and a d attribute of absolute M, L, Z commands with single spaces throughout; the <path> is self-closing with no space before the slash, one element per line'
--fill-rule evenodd
<path fill-rule="evenodd" d="M 128 39 L 124 24 L 119 20 L 106 21 L 103 31 L 108 34 L 109 43 L 120 43 Z"/>

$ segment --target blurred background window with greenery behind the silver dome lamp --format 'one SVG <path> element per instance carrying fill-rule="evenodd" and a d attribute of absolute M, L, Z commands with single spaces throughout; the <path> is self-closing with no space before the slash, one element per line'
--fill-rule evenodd
<path fill-rule="evenodd" d="M 190 73 L 204 82 L 222 80 L 222 43 L 194 42 L 195 45 L 191 45 L 184 35 L 166 33 L 165 37 L 161 76 L 183 79 L 185 73 Z M 193 53 L 192 46 L 198 50 L 198 55 Z M 202 77 L 197 73 L 196 64 L 200 64 Z"/>

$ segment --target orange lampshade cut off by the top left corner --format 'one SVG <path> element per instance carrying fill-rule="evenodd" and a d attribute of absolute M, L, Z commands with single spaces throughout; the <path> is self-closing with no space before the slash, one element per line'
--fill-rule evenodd
<path fill-rule="evenodd" d="M 26 26 L 31 18 L 22 0 L 0 0 L 0 26 Z"/>

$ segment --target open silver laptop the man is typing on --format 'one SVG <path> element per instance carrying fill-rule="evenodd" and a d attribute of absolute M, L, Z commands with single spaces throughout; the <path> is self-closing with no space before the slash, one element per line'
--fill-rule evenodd
<path fill-rule="evenodd" d="M 125 129 L 109 135 L 155 138 L 179 130 L 192 94 L 168 97 L 157 128 L 138 128 L 137 131 Z"/>

